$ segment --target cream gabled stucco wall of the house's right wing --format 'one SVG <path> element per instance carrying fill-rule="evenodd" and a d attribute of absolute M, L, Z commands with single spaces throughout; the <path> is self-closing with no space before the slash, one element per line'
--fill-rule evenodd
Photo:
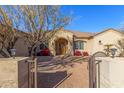
<path fill-rule="evenodd" d="M 104 51 L 104 48 L 105 48 L 104 45 L 117 44 L 117 41 L 120 40 L 121 38 L 122 38 L 122 34 L 120 32 L 114 31 L 112 29 L 94 36 L 94 38 L 92 40 L 92 49 L 90 49 L 91 54 L 93 54 L 97 51 Z M 100 40 L 102 43 L 101 45 L 99 44 Z"/>

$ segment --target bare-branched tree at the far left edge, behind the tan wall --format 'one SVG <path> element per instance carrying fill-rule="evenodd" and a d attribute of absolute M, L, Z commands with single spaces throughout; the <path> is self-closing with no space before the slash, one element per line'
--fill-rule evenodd
<path fill-rule="evenodd" d="M 20 16 L 12 6 L 0 6 L 0 54 L 10 57 L 12 49 L 19 38 Z"/>

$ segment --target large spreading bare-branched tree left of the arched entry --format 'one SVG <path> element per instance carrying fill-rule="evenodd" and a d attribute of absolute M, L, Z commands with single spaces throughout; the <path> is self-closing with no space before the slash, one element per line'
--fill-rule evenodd
<path fill-rule="evenodd" d="M 70 17 L 60 11 L 60 6 L 19 6 L 19 10 L 28 32 L 25 41 L 30 47 L 30 56 L 35 54 L 39 44 L 49 42 L 57 31 L 70 22 Z"/>

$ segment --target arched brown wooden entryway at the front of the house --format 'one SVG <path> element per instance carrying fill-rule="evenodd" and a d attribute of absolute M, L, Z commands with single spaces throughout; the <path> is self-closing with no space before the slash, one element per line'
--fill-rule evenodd
<path fill-rule="evenodd" d="M 65 55 L 68 50 L 68 41 L 64 38 L 59 38 L 55 41 L 56 55 Z"/>

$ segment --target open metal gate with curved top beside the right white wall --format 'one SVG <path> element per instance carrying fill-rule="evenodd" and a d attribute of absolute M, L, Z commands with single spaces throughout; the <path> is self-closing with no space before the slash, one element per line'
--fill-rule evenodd
<path fill-rule="evenodd" d="M 96 52 L 89 58 L 89 87 L 100 88 L 100 62 L 96 57 L 106 57 L 107 55 L 102 52 Z"/>

